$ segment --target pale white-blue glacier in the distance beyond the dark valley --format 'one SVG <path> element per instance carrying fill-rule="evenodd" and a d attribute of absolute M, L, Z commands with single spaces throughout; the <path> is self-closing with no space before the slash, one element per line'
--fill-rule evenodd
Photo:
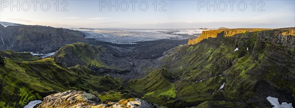
<path fill-rule="evenodd" d="M 87 39 L 110 42 L 114 44 L 136 44 L 143 41 L 161 39 L 184 39 L 183 36 L 163 33 L 165 30 L 98 30 L 74 29 L 83 32 Z"/>

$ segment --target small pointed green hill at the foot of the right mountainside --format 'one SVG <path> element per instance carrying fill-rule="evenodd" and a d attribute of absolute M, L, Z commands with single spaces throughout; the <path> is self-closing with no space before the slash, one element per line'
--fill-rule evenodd
<path fill-rule="evenodd" d="M 164 105 L 170 98 L 176 98 L 174 80 L 174 75 L 167 69 L 156 69 L 144 78 L 128 81 L 126 87 L 151 103 Z"/>

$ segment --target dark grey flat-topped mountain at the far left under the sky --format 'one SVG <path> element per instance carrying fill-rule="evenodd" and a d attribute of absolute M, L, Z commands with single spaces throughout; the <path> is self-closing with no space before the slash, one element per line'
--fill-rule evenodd
<path fill-rule="evenodd" d="M 0 25 L 0 50 L 17 52 L 54 52 L 65 44 L 83 42 L 84 34 L 64 28 Z"/>

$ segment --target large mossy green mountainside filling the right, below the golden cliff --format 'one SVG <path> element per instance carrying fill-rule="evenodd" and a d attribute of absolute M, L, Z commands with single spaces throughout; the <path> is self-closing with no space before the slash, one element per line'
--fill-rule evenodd
<path fill-rule="evenodd" d="M 127 86 L 169 108 L 201 103 L 220 103 L 216 106 L 226 108 L 271 107 L 267 96 L 295 103 L 294 47 L 294 27 L 218 35 L 196 45 L 176 47 L 164 56 L 161 67 L 176 75 L 177 81 L 161 83 L 165 77 L 157 80 L 154 77 L 159 75 L 151 72 Z M 159 98 L 166 93 L 175 93 L 175 98 Z M 145 97 L 152 95 L 158 97 Z"/>

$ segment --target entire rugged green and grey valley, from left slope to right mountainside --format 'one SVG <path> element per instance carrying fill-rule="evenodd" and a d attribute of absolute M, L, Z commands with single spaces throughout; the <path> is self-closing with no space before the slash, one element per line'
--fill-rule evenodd
<path fill-rule="evenodd" d="M 0 51 L 0 107 L 128 107 L 141 99 L 163 108 L 261 108 L 272 107 L 269 96 L 295 106 L 295 27 L 208 30 L 183 41 L 88 39 L 45 59 Z"/>

